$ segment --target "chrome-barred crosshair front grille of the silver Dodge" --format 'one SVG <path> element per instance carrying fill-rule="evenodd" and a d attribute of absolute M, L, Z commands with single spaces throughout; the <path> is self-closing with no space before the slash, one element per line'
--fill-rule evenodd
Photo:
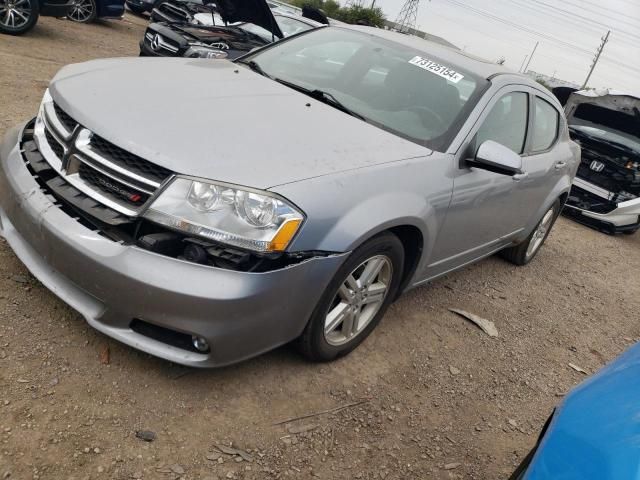
<path fill-rule="evenodd" d="M 50 118 L 52 115 L 56 118 Z M 75 132 L 70 139 L 64 140 L 68 145 L 56 140 L 67 138 L 65 132 L 57 131 L 60 128 L 57 125 Z M 60 177 L 84 195 L 120 214 L 137 216 L 142 206 L 172 175 L 166 168 L 83 128 L 55 104 L 53 108 L 44 109 L 40 128 L 35 131 L 38 142 L 46 142 L 57 159 L 43 156 Z M 65 147 L 70 151 L 68 158 L 63 158 Z"/>

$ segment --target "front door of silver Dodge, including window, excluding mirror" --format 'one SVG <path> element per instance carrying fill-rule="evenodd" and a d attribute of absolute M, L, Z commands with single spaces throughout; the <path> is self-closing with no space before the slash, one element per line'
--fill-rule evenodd
<path fill-rule="evenodd" d="M 525 175 L 501 175 L 470 168 L 486 140 L 522 154 L 529 124 L 529 94 L 524 87 L 501 89 L 485 107 L 460 152 L 451 205 L 436 240 L 427 276 L 433 277 L 495 251 L 524 228 L 528 205 Z"/>

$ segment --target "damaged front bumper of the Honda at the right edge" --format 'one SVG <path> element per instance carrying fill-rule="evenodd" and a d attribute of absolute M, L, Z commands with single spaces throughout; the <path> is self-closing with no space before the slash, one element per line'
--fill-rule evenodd
<path fill-rule="evenodd" d="M 576 178 L 563 213 L 605 233 L 633 233 L 640 228 L 640 197 L 614 202 L 610 192 Z"/>

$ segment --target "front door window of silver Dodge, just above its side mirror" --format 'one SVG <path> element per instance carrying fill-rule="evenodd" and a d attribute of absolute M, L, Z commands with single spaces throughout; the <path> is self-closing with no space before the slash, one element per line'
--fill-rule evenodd
<path fill-rule="evenodd" d="M 476 148 L 486 140 L 493 140 L 522 153 L 527 135 L 528 98 L 524 92 L 512 92 L 500 98 L 476 134 Z"/>

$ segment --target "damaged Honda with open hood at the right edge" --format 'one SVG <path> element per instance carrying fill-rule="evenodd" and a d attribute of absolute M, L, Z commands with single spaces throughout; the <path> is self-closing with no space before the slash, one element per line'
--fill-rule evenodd
<path fill-rule="evenodd" d="M 609 90 L 572 93 L 565 112 L 582 162 L 565 213 L 607 233 L 640 227 L 640 99 Z"/>

